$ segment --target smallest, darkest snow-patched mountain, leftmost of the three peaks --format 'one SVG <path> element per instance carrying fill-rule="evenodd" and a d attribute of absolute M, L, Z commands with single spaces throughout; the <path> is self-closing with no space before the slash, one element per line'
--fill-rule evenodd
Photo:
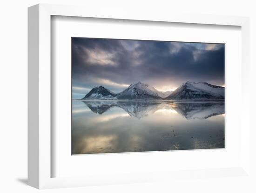
<path fill-rule="evenodd" d="M 94 87 L 86 96 L 82 98 L 85 99 L 111 99 L 114 98 L 116 94 L 104 86 Z"/>

